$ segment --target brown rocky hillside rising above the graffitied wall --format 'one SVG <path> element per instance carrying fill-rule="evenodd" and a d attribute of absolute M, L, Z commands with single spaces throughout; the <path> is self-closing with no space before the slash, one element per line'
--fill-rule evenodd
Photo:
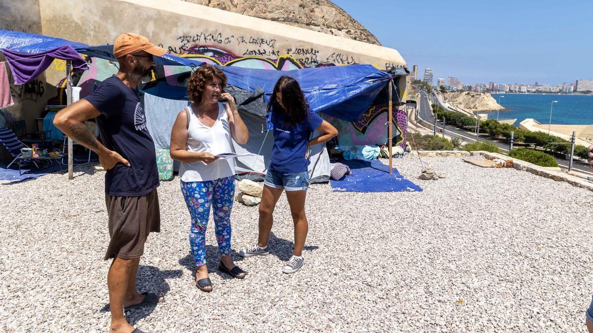
<path fill-rule="evenodd" d="M 184 0 L 238 14 L 263 18 L 308 30 L 381 45 L 342 8 L 329 0 Z"/>

